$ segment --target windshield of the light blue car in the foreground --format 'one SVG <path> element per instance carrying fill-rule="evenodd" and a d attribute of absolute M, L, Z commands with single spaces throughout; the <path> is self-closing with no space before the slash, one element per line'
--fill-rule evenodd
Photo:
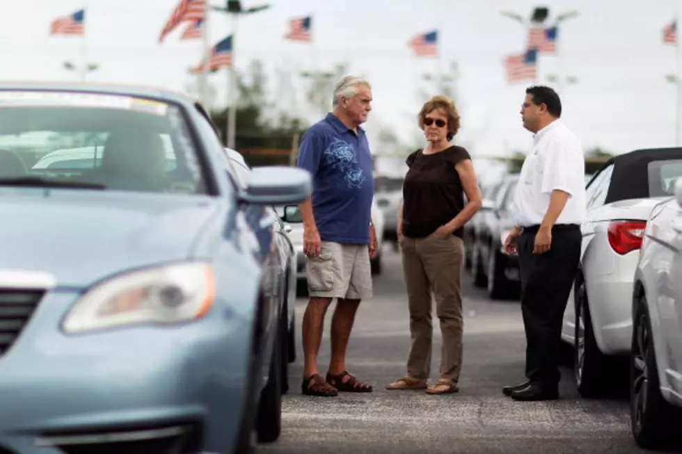
<path fill-rule="evenodd" d="M 207 192 L 179 107 L 81 92 L 0 91 L 0 185 Z"/>

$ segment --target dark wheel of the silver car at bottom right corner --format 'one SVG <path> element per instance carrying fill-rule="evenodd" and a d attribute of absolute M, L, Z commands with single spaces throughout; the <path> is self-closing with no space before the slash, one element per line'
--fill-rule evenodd
<path fill-rule="evenodd" d="M 640 298 L 633 321 L 630 354 L 630 419 L 635 442 L 644 449 L 674 448 L 681 411 L 660 393 L 656 353 L 646 298 Z M 680 445 L 679 441 L 676 443 Z"/>

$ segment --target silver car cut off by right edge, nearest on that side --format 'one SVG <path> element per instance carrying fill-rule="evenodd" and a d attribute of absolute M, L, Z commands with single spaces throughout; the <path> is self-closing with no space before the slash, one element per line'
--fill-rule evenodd
<path fill-rule="evenodd" d="M 647 220 L 631 305 L 633 437 L 641 448 L 666 451 L 682 447 L 682 179 L 674 193 Z"/>

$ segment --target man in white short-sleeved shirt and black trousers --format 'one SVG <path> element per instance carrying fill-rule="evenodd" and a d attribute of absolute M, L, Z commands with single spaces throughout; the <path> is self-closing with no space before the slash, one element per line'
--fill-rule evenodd
<path fill-rule="evenodd" d="M 514 197 L 516 227 L 505 241 L 521 266 L 521 313 L 528 381 L 502 389 L 514 400 L 559 397 L 561 325 L 580 261 L 585 220 L 585 154 L 560 120 L 561 100 L 545 86 L 525 91 L 523 127 L 534 147 L 523 162 Z"/>

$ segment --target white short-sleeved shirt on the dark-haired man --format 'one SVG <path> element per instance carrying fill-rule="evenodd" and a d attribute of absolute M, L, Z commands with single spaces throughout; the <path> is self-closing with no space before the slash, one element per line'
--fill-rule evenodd
<path fill-rule="evenodd" d="M 559 189 L 570 197 L 556 224 L 582 224 L 585 220 L 585 153 L 580 141 L 560 120 L 554 120 L 533 137 L 516 184 L 512 219 L 518 227 L 540 225 L 550 195 Z"/>

